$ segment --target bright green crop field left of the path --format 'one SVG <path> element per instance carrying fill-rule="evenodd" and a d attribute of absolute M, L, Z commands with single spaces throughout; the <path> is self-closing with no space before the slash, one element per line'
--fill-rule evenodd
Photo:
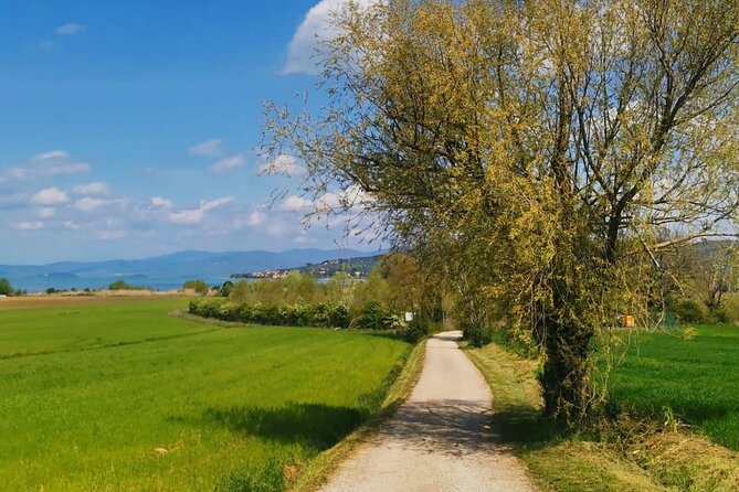
<path fill-rule="evenodd" d="M 409 351 L 168 315 L 186 306 L 0 310 L 0 489 L 273 490 L 379 406 Z"/>

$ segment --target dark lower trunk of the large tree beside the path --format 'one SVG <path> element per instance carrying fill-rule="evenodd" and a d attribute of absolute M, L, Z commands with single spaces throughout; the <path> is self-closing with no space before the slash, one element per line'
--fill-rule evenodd
<path fill-rule="evenodd" d="M 590 381 L 588 350 L 592 332 L 548 321 L 546 361 L 540 376 L 545 415 L 576 420 L 588 414 Z"/>

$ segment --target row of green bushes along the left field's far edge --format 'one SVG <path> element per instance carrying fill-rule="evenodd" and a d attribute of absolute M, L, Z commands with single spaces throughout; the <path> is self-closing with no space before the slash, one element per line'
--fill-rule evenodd
<path fill-rule="evenodd" d="M 224 284 L 220 297 L 192 299 L 188 312 L 228 322 L 392 331 L 415 343 L 444 319 L 436 279 L 423 274 L 410 255 L 394 253 L 367 280 L 339 272 L 321 282 L 298 271 L 281 279 L 241 280 Z M 407 312 L 412 319 L 405 319 Z"/>

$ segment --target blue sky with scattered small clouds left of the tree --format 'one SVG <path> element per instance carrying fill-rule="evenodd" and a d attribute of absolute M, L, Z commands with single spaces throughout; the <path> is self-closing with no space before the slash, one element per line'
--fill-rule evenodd
<path fill-rule="evenodd" d="M 0 2 L 0 264 L 357 247 L 265 207 L 255 149 L 342 1 Z"/>

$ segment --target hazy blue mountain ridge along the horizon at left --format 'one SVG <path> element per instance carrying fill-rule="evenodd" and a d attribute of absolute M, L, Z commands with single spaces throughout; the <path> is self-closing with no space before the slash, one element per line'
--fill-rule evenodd
<path fill-rule="evenodd" d="M 115 259 L 108 261 L 60 261 L 47 265 L 0 265 L 0 277 L 13 286 L 44 285 L 66 279 L 70 286 L 102 287 L 109 278 L 136 278 L 138 285 L 177 285 L 189 278 L 203 278 L 209 282 L 226 279 L 237 271 L 299 268 L 325 260 L 376 256 L 377 252 L 356 249 L 288 249 L 286 252 L 200 252 L 186 250 L 144 259 Z M 75 279 L 72 281 L 71 279 Z M 92 282 L 95 279 L 96 282 Z M 105 280 L 102 280 L 105 279 Z M 147 281 L 147 279 L 156 279 Z M 33 280 L 33 281 L 31 281 Z M 86 281 L 89 280 L 89 281 Z M 166 281 L 162 281 L 166 280 Z M 94 285 L 93 285 L 94 284 Z"/>

